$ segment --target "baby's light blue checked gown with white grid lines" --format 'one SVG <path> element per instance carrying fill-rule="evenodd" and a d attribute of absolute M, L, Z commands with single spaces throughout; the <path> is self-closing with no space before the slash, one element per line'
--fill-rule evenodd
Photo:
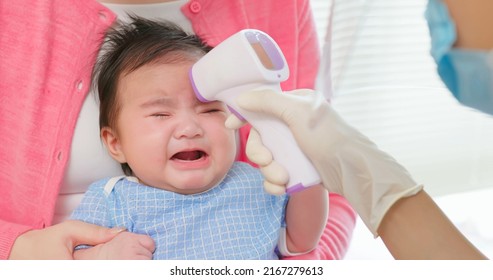
<path fill-rule="evenodd" d="M 235 163 L 207 192 L 182 195 L 123 177 L 93 183 L 71 219 L 122 226 L 156 242 L 154 259 L 277 259 L 287 196 L 265 193 L 260 172 Z"/>

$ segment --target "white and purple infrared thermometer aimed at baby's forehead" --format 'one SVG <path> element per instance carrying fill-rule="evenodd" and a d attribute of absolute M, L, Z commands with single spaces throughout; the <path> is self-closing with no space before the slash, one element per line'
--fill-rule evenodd
<path fill-rule="evenodd" d="M 197 98 L 228 105 L 231 112 L 248 121 L 260 134 L 275 161 L 289 173 L 287 192 L 294 193 L 320 183 L 320 177 L 299 149 L 287 125 L 266 114 L 242 110 L 236 105 L 241 93 L 271 89 L 282 94 L 280 83 L 289 68 L 277 43 L 254 29 L 242 30 L 213 48 L 190 70 Z"/>

